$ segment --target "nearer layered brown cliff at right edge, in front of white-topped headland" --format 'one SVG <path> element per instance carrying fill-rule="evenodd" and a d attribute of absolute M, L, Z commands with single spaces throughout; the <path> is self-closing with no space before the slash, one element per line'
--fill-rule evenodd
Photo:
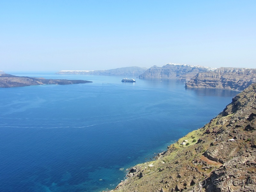
<path fill-rule="evenodd" d="M 256 83 L 256 69 L 222 67 L 214 71 L 197 73 L 186 83 L 186 87 L 242 91 L 253 83 Z"/>

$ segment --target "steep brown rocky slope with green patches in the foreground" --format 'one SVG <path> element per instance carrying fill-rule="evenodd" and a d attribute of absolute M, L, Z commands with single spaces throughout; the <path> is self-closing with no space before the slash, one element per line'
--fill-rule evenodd
<path fill-rule="evenodd" d="M 115 191 L 256 191 L 256 84 L 204 127 L 138 164 Z"/>

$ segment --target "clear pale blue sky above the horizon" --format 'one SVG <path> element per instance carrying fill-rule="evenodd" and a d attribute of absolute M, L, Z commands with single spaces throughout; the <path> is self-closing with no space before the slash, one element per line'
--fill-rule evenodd
<path fill-rule="evenodd" d="M 0 1 L 0 70 L 256 68 L 256 1 Z"/>

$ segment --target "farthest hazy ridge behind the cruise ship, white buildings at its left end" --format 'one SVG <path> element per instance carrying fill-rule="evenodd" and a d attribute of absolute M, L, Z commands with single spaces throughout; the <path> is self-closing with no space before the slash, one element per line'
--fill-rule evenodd
<path fill-rule="evenodd" d="M 87 75 L 116 75 L 124 77 L 137 77 L 144 73 L 147 68 L 140 67 L 124 67 L 110 70 L 99 70 L 99 71 L 59 71 L 56 74 L 87 74 Z"/>

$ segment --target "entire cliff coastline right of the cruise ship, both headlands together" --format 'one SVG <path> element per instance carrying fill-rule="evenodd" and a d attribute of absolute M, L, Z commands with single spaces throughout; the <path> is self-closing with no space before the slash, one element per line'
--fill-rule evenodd
<path fill-rule="evenodd" d="M 215 88 L 242 91 L 256 83 L 256 69 L 208 68 L 168 63 L 151 67 L 139 78 L 167 78 L 186 80 L 186 87 Z"/>

